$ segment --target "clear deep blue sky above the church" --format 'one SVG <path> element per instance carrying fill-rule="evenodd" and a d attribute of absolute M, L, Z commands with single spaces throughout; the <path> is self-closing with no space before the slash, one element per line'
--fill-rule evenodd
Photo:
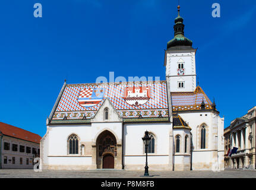
<path fill-rule="evenodd" d="M 199 83 L 225 127 L 256 106 L 255 0 L 180 1 L 185 36 L 197 48 Z M 220 4 L 220 18 L 211 5 Z M 34 4 L 42 18 L 34 18 Z M 4 0 L 0 2 L 0 121 L 43 137 L 67 83 L 99 76 L 159 76 L 178 1 Z"/>

